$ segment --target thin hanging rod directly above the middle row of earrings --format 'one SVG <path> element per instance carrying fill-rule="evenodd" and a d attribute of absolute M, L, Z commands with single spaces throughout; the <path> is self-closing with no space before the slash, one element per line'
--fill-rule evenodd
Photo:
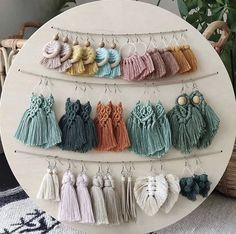
<path fill-rule="evenodd" d="M 55 80 L 55 81 L 60 81 L 60 82 L 67 82 L 67 83 L 74 83 L 74 84 L 90 84 L 90 85 L 116 85 L 116 86 L 133 86 L 133 87 L 144 87 L 148 84 L 150 84 L 150 86 L 164 86 L 164 85 L 173 85 L 173 84 L 185 84 L 185 83 L 191 83 L 191 82 L 194 82 L 194 81 L 197 81 L 197 80 L 201 80 L 201 79 L 205 79 L 205 78 L 208 78 L 208 77 L 212 77 L 212 76 L 216 76 L 219 74 L 219 72 L 213 72 L 213 73 L 209 73 L 209 74 L 206 74 L 206 75 L 203 75 L 203 76 L 199 76 L 199 77 L 195 77 L 195 78 L 190 78 L 190 79 L 182 79 L 182 80 L 168 80 L 168 81 L 147 81 L 147 82 L 129 82 L 129 83 L 121 83 L 121 84 L 118 84 L 118 83 L 98 83 L 98 82 L 85 82 L 85 81 L 78 81 L 78 79 L 70 79 L 70 78 L 66 78 L 66 79 L 61 79 L 61 78 L 57 78 L 57 77 L 50 77 L 50 76 L 46 76 L 46 75 L 41 75 L 41 74 L 38 74 L 38 73 L 34 73 L 34 72 L 30 72 L 30 71 L 26 71 L 26 70 L 22 70 L 22 69 L 18 69 L 19 72 L 22 72 L 24 74 L 27 74 L 27 75 L 32 75 L 32 76 L 37 76 L 37 77 L 40 77 L 40 78 L 44 78 L 44 79 L 49 79 L 49 80 Z"/>

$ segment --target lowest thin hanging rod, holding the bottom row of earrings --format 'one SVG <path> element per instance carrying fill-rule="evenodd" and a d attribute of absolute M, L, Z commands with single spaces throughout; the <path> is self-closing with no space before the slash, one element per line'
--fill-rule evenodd
<path fill-rule="evenodd" d="M 68 159 L 64 157 L 60 157 L 57 155 L 50 155 L 50 154 L 40 154 L 40 153 L 32 153 L 28 151 L 23 151 L 23 150 L 15 150 L 14 153 L 16 154 L 26 154 L 26 155 L 34 155 L 37 157 L 41 158 L 47 158 L 47 159 L 59 159 L 59 160 L 64 160 L 64 161 L 73 161 L 73 162 L 85 162 L 85 163 L 107 163 L 107 161 L 102 161 L 102 160 L 84 160 L 84 159 Z M 192 158 L 198 158 L 198 157 L 206 157 L 210 155 L 215 155 L 215 154 L 220 154 L 223 153 L 223 150 L 217 150 L 217 151 L 212 151 L 208 153 L 202 153 L 202 154 L 192 154 L 192 155 L 186 155 L 182 157 L 176 157 L 176 158 L 154 158 L 154 157 L 146 157 L 146 159 L 142 160 L 135 160 L 135 161 L 130 161 L 130 160 L 122 160 L 122 161 L 109 161 L 110 164 L 121 164 L 121 163 L 150 163 L 150 162 L 169 162 L 169 161 L 178 161 L 178 160 L 188 160 Z"/>

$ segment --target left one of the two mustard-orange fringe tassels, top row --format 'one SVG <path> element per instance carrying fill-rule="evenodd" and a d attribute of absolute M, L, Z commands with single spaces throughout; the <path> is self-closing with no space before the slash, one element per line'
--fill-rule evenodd
<path fill-rule="evenodd" d="M 191 66 L 185 58 L 184 53 L 181 51 L 180 47 L 171 48 L 170 52 L 173 54 L 177 63 L 179 64 L 180 74 L 189 72 L 191 70 Z"/>

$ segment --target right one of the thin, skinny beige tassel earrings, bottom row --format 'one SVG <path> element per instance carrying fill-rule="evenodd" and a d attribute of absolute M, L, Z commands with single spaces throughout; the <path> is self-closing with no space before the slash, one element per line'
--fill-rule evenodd
<path fill-rule="evenodd" d="M 136 221 L 137 213 L 136 213 L 136 204 L 134 197 L 134 185 L 133 185 L 133 172 L 134 166 L 131 163 L 129 171 L 127 171 L 127 192 L 126 192 L 126 204 L 127 204 L 127 214 L 129 221 Z"/>

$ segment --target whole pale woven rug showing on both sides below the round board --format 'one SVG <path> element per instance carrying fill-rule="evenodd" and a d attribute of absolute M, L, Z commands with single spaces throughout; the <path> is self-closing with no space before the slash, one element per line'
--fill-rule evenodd
<path fill-rule="evenodd" d="M 82 234 L 38 209 L 21 187 L 0 192 L 0 234 Z M 152 234 L 235 234 L 236 200 L 213 193 L 190 215 Z M 85 234 L 85 233 L 83 233 Z M 94 233 L 95 234 L 95 233 Z"/>

